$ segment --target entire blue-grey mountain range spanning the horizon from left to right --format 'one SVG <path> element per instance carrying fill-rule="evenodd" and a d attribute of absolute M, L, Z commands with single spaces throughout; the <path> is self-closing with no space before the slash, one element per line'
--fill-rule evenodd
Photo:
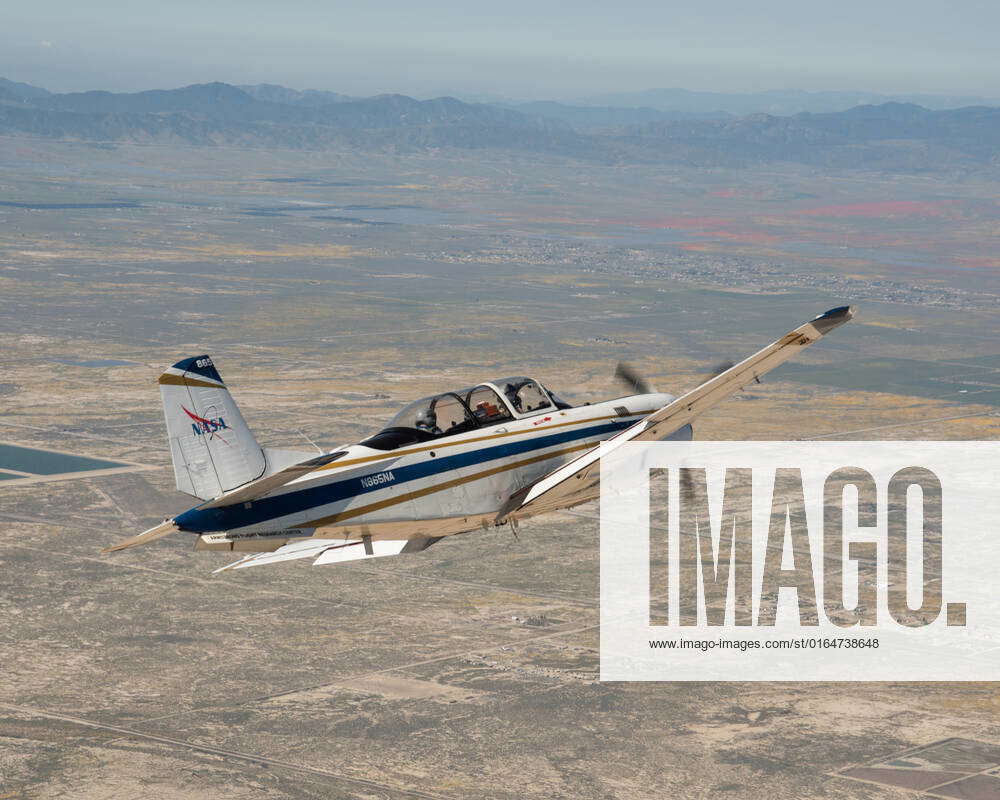
<path fill-rule="evenodd" d="M 499 148 L 709 167 L 782 161 L 906 172 L 1000 167 L 1000 109 L 900 102 L 737 116 L 650 105 L 359 98 L 272 84 L 57 94 L 0 79 L 0 135 L 298 149 Z"/>

